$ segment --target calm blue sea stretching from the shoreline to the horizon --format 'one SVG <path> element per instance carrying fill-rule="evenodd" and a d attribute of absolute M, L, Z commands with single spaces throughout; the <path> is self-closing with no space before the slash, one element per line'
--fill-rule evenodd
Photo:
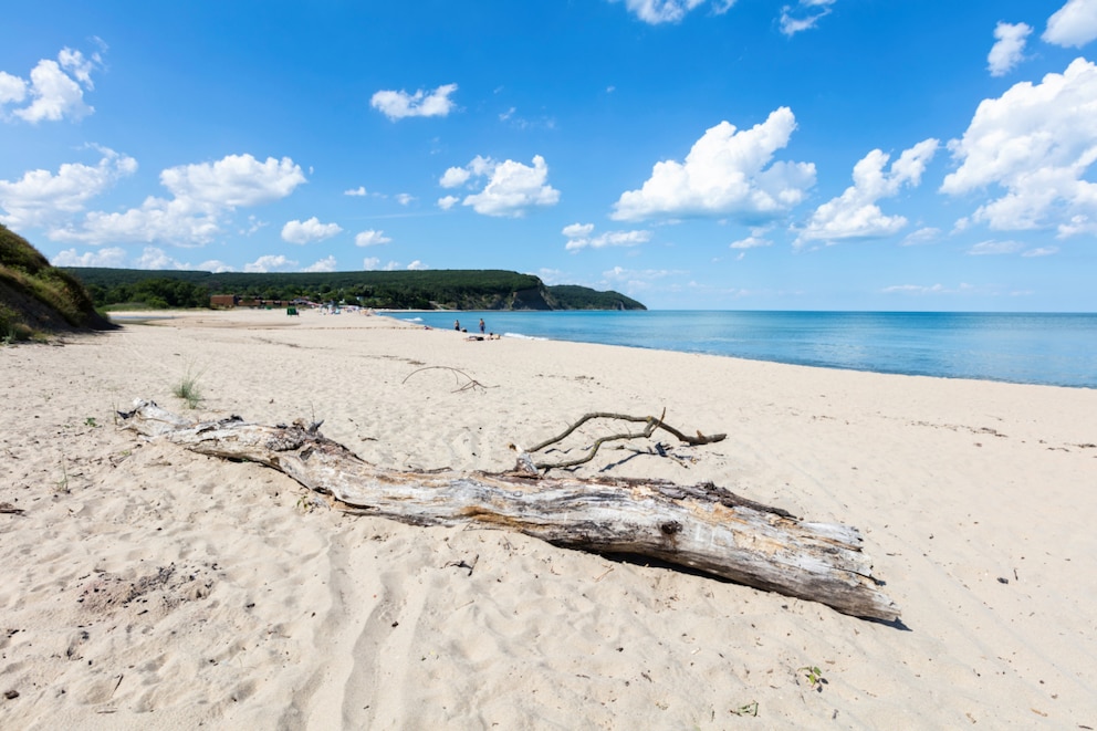
<path fill-rule="evenodd" d="M 942 378 L 1097 388 L 1097 314 L 415 312 L 430 327 Z"/>

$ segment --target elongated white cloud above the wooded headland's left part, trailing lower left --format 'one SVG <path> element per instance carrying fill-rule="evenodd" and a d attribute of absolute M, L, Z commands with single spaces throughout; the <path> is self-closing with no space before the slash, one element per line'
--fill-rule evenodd
<path fill-rule="evenodd" d="M 55 228 L 55 241 L 170 242 L 203 246 L 222 230 L 224 217 L 238 207 L 259 206 L 289 196 L 305 181 L 293 160 L 229 155 L 216 163 L 184 165 L 160 173 L 174 198 L 148 197 L 139 208 L 121 213 L 92 211 L 80 226 Z"/>

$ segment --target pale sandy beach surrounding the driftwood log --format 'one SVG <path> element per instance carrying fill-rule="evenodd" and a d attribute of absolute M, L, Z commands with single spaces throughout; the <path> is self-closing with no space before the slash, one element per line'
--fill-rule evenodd
<path fill-rule="evenodd" d="M 129 321 L 0 348 L 0 503 L 21 511 L 0 514 L 3 729 L 1097 729 L 1094 390 L 312 311 Z M 173 395 L 188 376 L 194 410 Z M 633 446 L 669 456 L 606 449 L 575 473 L 854 525 L 902 625 L 348 514 L 118 428 L 135 398 L 323 420 L 377 466 L 470 472 L 587 411 L 666 409 L 728 438 L 657 435 Z"/>

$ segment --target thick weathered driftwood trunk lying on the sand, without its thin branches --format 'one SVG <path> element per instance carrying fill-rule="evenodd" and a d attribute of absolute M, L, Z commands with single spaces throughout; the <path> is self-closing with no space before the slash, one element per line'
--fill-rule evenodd
<path fill-rule="evenodd" d="M 150 401 L 128 428 L 191 451 L 259 462 L 369 514 L 417 525 L 476 523 L 598 553 L 660 560 L 761 589 L 891 622 L 857 530 L 808 523 L 712 484 L 615 478 L 398 472 L 369 464 L 302 424 L 239 417 L 194 424 Z"/>

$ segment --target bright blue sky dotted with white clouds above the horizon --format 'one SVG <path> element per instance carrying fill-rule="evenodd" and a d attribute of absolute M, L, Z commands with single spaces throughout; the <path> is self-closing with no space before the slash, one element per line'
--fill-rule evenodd
<path fill-rule="evenodd" d="M 1097 310 L 1097 0 L 35 0 L 3 29 L 0 222 L 56 264 Z"/>

